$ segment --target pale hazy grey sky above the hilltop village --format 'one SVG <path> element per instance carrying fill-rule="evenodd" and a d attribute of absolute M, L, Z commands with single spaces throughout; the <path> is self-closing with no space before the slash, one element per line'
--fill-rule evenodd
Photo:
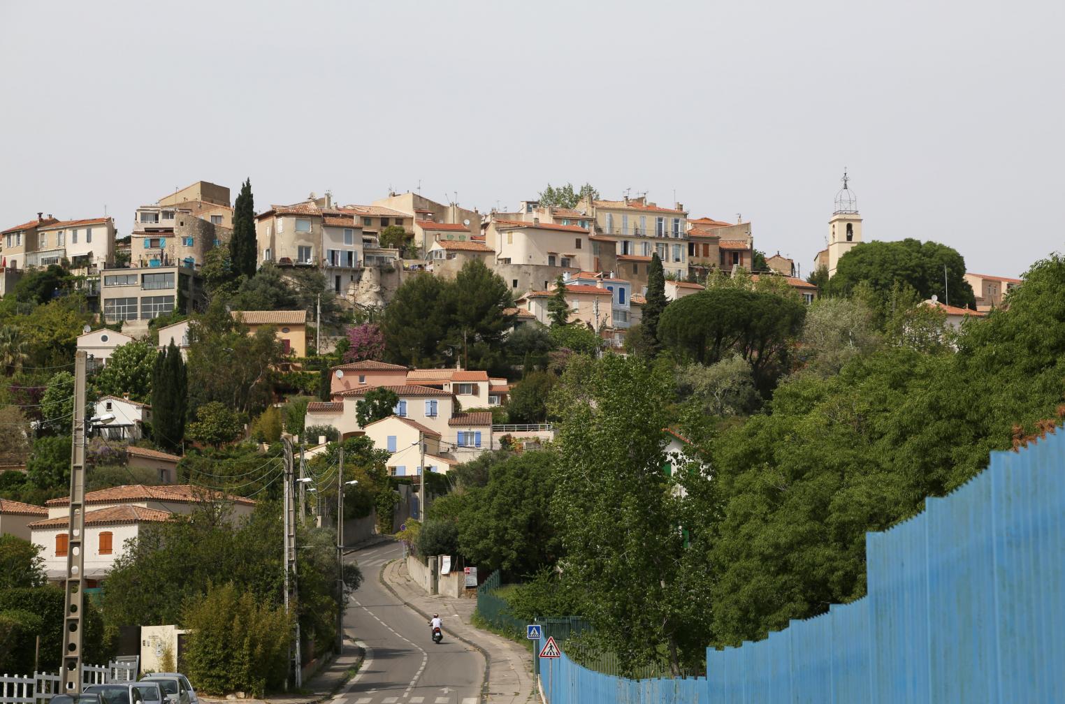
<path fill-rule="evenodd" d="M 1062 247 L 1063 33 L 1061 0 L 0 0 L 0 226 L 590 181 L 742 213 L 805 276 L 846 166 L 867 241 L 1018 276 Z"/>

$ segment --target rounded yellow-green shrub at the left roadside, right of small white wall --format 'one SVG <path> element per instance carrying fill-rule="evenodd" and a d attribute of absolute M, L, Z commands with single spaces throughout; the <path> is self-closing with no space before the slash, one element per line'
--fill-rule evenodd
<path fill-rule="evenodd" d="M 192 631 L 185 670 L 203 692 L 262 698 L 284 684 L 291 623 L 283 608 L 256 603 L 232 584 L 211 586 L 182 624 Z"/>

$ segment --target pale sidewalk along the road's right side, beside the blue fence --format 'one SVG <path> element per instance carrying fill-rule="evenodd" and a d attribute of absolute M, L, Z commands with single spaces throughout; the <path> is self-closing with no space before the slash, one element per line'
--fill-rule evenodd
<path fill-rule="evenodd" d="M 455 636 L 485 656 L 486 686 L 484 701 L 491 704 L 527 704 L 539 701 L 529 651 L 512 640 L 481 631 L 470 623 L 476 599 L 452 599 L 426 594 L 407 574 L 407 561 L 393 560 L 381 568 L 384 587 L 427 620 L 440 613 L 444 633 Z"/>

